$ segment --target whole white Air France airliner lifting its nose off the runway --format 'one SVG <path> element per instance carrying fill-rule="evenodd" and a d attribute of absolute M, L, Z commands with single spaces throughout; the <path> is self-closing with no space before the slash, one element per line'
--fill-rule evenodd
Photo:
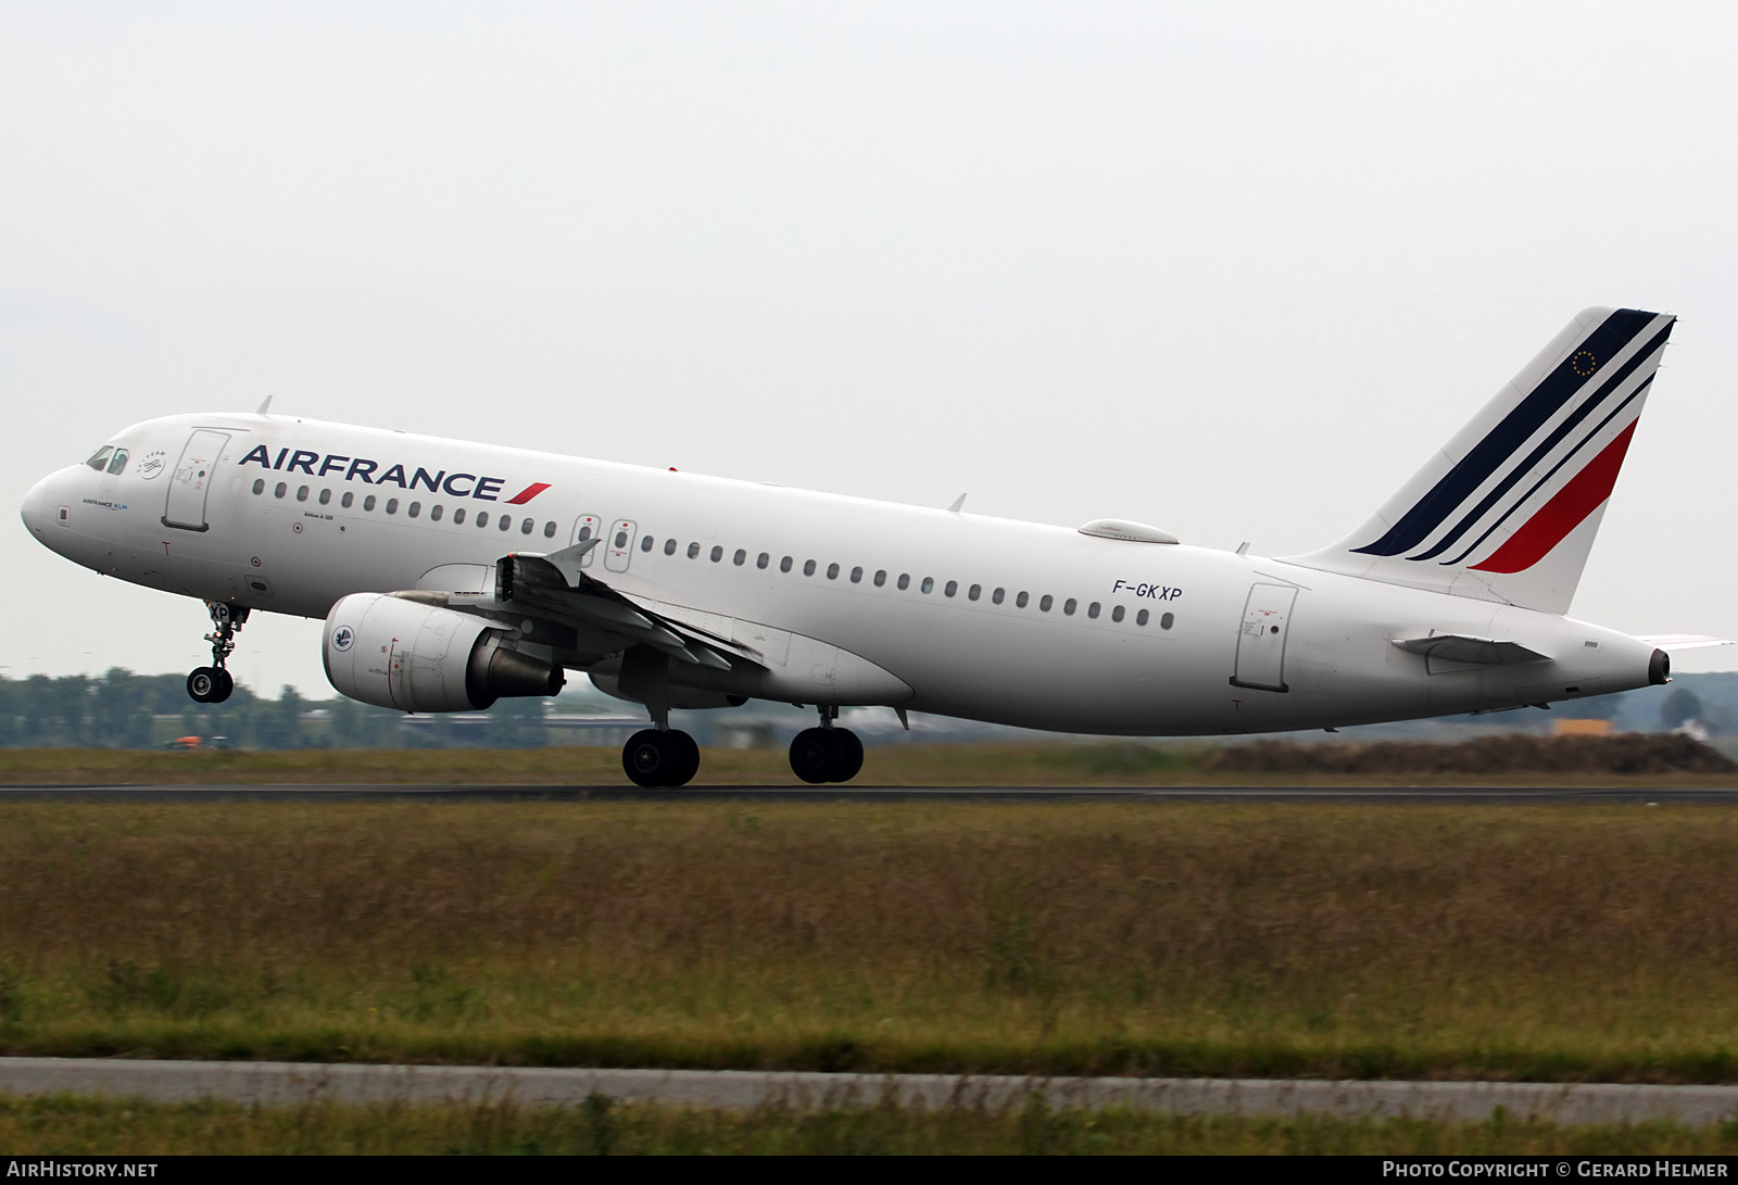
<path fill-rule="evenodd" d="M 643 704 L 640 785 L 683 785 L 673 707 L 839 707 L 1137 737 L 1335 728 L 1665 683 L 1672 639 L 1564 613 L 1674 318 L 1576 316 L 1370 521 L 1304 556 L 1189 547 L 285 415 L 172 415 L 38 483 L 24 523 L 106 575 L 205 601 L 212 665 L 254 610 L 323 617 L 344 695 L 405 712 Z M 1681 639 L 1689 641 L 1689 639 Z M 1712 641 L 1712 639 L 1696 639 Z"/>

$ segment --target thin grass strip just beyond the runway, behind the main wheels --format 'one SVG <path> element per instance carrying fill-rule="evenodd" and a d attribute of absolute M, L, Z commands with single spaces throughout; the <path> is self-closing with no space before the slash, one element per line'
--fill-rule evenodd
<path fill-rule="evenodd" d="M 1618 744 L 1604 738 L 1547 742 Z M 1688 744 L 1688 742 L 1686 742 Z M 1323 747 L 1331 752 L 1335 747 Z M 1432 745 L 1408 745 L 1429 754 Z M 1658 766 L 1618 773 L 1613 765 L 1547 759 L 1536 766 L 1436 770 L 1319 768 L 1297 761 L 1312 747 L 1265 744 L 1237 752 L 1204 745 L 1022 744 L 885 745 L 857 778 L 867 785 L 1733 785 L 1731 771 Z M 1267 761 L 1264 754 L 1276 754 Z M 1707 751 L 1703 756 L 1721 761 Z M 1264 768 L 1269 766 L 1269 768 Z M 0 749 L 0 784 L 438 784 L 624 785 L 617 749 L 283 749 L 163 752 L 136 749 Z M 697 785 L 803 785 L 782 749 L 707 749 Z"/>

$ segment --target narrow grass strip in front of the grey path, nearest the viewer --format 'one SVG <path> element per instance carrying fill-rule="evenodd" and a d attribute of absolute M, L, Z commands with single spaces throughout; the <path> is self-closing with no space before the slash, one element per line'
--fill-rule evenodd
<path fill-rule="evenodd" d="M 1622 1155 L 1738 1154 L 1738 1124 L 1559 1128 L 1486 1122 L 1201 1119 L 1123 1110 L 900 1110 L 749 1114 L 610 1105 L 247 1109 L 122 1100 L 0 1100 L 12 1155 L 236 1154 L 1337 1154 Z"/>

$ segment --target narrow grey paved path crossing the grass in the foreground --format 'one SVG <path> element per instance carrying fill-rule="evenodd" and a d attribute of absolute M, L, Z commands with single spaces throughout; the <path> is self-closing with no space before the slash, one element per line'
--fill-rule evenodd
<path fill-rule="evenodd" d="M 897 1102 L 905 1107 L 1126 1107 L 1170 1115 L 1337 1115 L 1561 1124 L 1729 1121 L 1738 1086 L 1627 1086 L 1549 1082 L 1361 1082 L 1180 1077 L 958 1077 L 947 1074 L 796 1074 L 777 1070 L 601 1070 L 487 1065 L 356 1065 L 311 1062 L 127 1062 L 0 1058 L 0 1093 L 101 1095 L 240 1105 L 483 1103 L 570 1107 L 589 1095 L 622 1102 L 749 1110 Z"/>

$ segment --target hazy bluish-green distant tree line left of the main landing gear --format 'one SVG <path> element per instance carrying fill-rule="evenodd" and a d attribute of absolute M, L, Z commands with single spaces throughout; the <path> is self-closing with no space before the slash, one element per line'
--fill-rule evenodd
<path fill-rule="evenodd" d="M 243 685 L 224 704 L 195 704 L 179 674 L 134 674 L 113 667 L 101 678 L 66 674 L 0 678 L 0 747 L 148 749 L 172 737 L 222 738 L 238 749 L 403 749 L 455 744 L 527 749 L 546 744 L 546 700 L 501 700 L 478 725 L 436 716 L 405 728 L 405 714 L 335 697 L 302 698 L 285 686 L 278 698 Z M 172 718 L 165 721 L 163 718 Z"/>

